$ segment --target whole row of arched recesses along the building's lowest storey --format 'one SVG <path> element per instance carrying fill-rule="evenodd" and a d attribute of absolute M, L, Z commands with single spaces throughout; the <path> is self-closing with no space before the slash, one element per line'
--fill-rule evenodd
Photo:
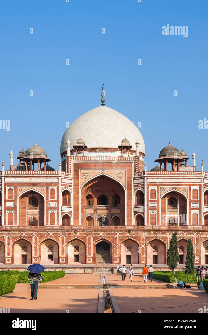
<path fill-rule="evenodd" d="M 187 255 L 188 241 L 178 240 L 179 264 L 184 265 Z M 112 264 L 113 246 L 106 240 L 99 240 L 93 245 L 93 264 Z M 59 264 L 59 245 L 51 239 L 40 243 L 41 264 Z M 13 264 L 31 264 L 32 246 L 25 239 L 13 243 Z M 200 246 L 201 264 L 208 264 L 208 240 Z M 162 240 L 154 239 L 147 242 L 147 264 L 166 264 L 167 250 Z M 66 248 L 67 264 L 85 264 L 86 248 L 84 242 L 79 239 L 69 241 Z M 139 243 L 127 239 L 120 244 L 121 264 L 140 264 Z M 0 264 L 5 264 L 5 246 L 0 241 Z"/>

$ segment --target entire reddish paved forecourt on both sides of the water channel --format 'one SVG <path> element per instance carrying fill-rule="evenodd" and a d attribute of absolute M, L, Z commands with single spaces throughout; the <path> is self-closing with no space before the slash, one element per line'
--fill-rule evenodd
<path fill-rule="evenodd" d="M 166 283 L 153 280 L 144 283 L 142 275 L 133 275 L 123 282 L 121 276 L 106 275 L 108 284 L 137 284 L 142 288 L 112 288 L 122 313 L 199 313 L 199 308 L 208 308 L 208 295 L 198 290 L 196 284 L 191 289 L 157 288 Z M 44 288 L 45 285 L 98 285 L 100 275 L 65 275 L 64 278 L 43 283 L 38 289 L 38 300 L 31 300 L 30 285 L 16 284 L 13 293 L 0 297 L 0 308 L 10 308 L 11 313 L 97 313 L 98 288 Z M 149 288 L 150 286 L 155 288 Z M 99 285 L 98 285 L 99 286 Z M 141 287 L 141 286 L 140 286 Z M 144 287 L 144 289 L 143 289 Z M 183 306 L 186 305 L 186 306 Z"/>

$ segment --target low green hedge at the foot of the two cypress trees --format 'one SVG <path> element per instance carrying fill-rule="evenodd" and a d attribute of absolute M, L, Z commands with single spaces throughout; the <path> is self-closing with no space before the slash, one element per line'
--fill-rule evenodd
<path fill-rule="evenodd" d="M 166 283 L 176 283 L 183 280 L 186 284 L 195 284 L 196 278 L 194 278 L 194 274 L 185 274 L 184 271 L 176 271 L 174 274 L 171 272 L 162 272 L 162 271 L 154 271 L 153 278 L 165 281 Z"/>

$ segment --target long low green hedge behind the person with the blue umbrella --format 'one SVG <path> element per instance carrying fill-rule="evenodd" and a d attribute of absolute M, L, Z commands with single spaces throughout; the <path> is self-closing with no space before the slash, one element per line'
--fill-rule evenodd
<path fill-rule="evenodd" d="M 7 276 L 15 279 L 16 283 L 29 283 L 30 280 L 28 278 L 29 271 L 0 271 L 0 278 L 1 276 Z M 62 278 L 65 275 L 65 271 L 44 271 L 41 272 L 43 276 L 42 283 L 45 283 L 47 281 L 51 281 L 54 279 Z"/>

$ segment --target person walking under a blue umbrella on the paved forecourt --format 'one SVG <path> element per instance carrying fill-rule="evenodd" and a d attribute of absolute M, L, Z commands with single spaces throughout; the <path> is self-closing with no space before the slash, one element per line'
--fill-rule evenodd
<path fill-rule="evenodd" d="M 45 268 L 40 264 L 32 264 L 27 270 L 30 271 L 28 278 L 30 279 L 31 300 L 34 299 L 34 291 L 35 300 L 37 300 L 38 283 L 43 279 L 43 276 L 40 274 L 40 272 L 43 272 Z"/>

